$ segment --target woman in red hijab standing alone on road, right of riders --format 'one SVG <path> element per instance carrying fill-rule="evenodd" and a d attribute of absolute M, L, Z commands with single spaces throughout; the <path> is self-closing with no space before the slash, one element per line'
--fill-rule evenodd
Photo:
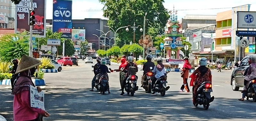
<path fill-rule="evenodd" d="M 183 85 L 180 87 L 180 92 L 183 92 L 184 88 L 187 92 L 190 92 L 188 88 L 188 71 L 191 69 L 191 65 L 189 64 L 188 57 L 184 57 L 183 67 L 180 69 L 183 71 Z"/>

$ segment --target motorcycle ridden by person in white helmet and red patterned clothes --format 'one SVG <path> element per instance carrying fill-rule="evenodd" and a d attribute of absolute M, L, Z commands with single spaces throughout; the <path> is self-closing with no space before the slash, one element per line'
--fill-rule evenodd
<path fill-rule="evenodd" d="M 194 90 L 194 87 L 193 87 Z M 199 105 L 204 106 L 204 110 L 207 110 L 212 102 L 211 98 L 212 83 L 210 81 L 203 82 L 197 89 L 196 107 Z M 193 91 L 192 91 L 193 93 Z M 194 93 L 193 93 L 194 94 Z"/>

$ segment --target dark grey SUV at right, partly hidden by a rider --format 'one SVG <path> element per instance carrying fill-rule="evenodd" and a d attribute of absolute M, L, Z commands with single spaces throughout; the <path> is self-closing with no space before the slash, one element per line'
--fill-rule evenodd
<path fill-rule="evenodd" d="M 256 56 L 256 54 L 245 56 L 240 63 L 236 63 L 236 68 L 232 71 L 230 85 L 234 91 L 238 91 L 239 87 L 244 87 L 244 71 L 249 67 L 248 57 Z"/>

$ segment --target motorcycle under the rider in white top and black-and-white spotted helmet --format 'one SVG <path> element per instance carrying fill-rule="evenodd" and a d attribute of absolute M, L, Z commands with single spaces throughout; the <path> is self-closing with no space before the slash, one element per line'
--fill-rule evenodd
<path fill-rule="evenodd" d="M 170 71 L 166 71 L 166 74 L 164 76 L 161 76 L 159 78 L 156 79 L 155 85 L 153 90 L 151 91 L 151 94 L 155 94 L 155 92 L 158 92 L 161 94 L 161 96 L 165 95 L 165 92 L 170 88 L 169 86 L 166 86 L 166 79 L 167 79 L 167 73 L 169 73 Z"/>

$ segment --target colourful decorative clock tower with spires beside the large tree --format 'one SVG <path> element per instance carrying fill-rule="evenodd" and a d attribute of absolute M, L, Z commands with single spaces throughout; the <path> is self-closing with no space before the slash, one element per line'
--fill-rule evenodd
<path fill-rule="evenodd" d="M 179 59 L 180 58 L 180 49 L 184 48 L 182 45 L 183 36 L 182 33 L 178 33 L 180 29 L 180 24 L 178 22 L 177 10 L 174 9 L 170 11 L 170 19 L 167 21 L 164 36 L 164 48 L 167 51 L 166 58 Z"/>

